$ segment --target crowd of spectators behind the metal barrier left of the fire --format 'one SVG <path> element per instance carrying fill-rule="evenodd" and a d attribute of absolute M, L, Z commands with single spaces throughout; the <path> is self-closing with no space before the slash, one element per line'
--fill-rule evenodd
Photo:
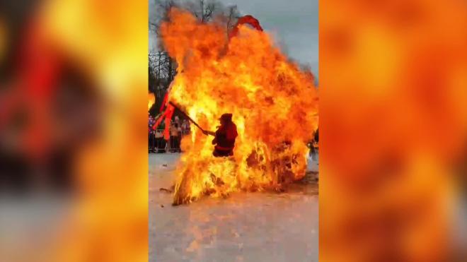
<path fill-rule="evenodd" d="M 149 114 L 149 153 L 181 153 L 180 141 L 182 136 L 190 133 L 190 121 L 187 119 L 180 120 L 176 117 L 171 121 L 169 128 L 170 138 L 168 141 L 163 137 L 165 123 L 162 122 L 156 129 L 154 129 L 156 119 Z"/>

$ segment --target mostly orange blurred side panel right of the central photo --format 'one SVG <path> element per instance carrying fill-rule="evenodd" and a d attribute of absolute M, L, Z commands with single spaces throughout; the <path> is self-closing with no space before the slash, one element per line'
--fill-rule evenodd
<path fill-rule="evenodd" d="M 320 261 L 466 261 L 467 2 L 320 1 Z"/>

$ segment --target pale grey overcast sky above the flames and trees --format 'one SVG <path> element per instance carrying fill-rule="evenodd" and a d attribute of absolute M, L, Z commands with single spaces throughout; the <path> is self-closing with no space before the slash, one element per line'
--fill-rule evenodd
<path fill-rule="evenodd" d="M 282 49 L 301 64 L 309 64 L 318 76 L 318 0 L 222 0 L 234 4 L 242 15 L 252 15 L 274 35 Z M 149 0 L 149 16 L 154 16 Z M 156 36 L 149 32 L 149 49 L 156 48 Z"/>

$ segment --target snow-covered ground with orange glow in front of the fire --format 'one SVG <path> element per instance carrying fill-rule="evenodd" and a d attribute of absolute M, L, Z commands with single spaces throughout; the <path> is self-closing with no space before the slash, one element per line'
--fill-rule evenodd
<path fill-rule="evenodd" d="M 159 189 L 173 184 L 179 156 L 149 155 L 149 261 L 318 261 L 317 183 L 173 207 Z"/>

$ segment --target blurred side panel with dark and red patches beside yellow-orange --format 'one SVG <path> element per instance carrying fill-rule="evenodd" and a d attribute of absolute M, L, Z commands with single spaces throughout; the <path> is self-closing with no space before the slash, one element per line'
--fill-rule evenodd
<path fill-rule="evenodd" d="M 147 1 L 0 1 L 0 261 L 147 261 Z"/>

